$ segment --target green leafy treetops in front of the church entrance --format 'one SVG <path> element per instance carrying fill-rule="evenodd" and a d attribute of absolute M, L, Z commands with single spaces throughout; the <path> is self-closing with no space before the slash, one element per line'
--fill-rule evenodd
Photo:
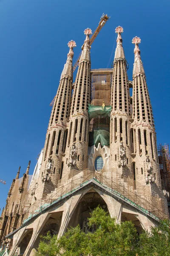
<path fill-rule="evenodd" d="M 94 233 L 85 234 L 80 226 L 71 227 L 57 240 L 50 233 L 42 237 L 37 256 L 170 256 L 170 221 L 161 221 L 151 233 L 138 235 L 131 221 L 117 224 L 97 207 L 88 220 Z"/>

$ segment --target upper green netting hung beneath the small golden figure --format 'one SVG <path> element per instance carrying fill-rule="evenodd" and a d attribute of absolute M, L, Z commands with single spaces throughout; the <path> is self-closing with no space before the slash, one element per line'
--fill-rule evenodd
<path fill-rule="evenodd" d="M 111 106 L 94 106 L 91 104 L 88 104 L 88 114 L 89 114 L 89 120 L 91 121 L 92 118 L 96 116 L 110 116 L 111 113 Z"/>

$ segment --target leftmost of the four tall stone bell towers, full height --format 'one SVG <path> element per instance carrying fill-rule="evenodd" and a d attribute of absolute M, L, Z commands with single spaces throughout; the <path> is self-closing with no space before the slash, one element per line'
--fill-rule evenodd
<path fill-rule="evenodd" d="M 63 154 L 65 154 L 68 135 L 68 118 L 71 105 L 71 90 L 73 82 L 73 48 L 75 41 L 68 42 L 69 52 L 62 70 L 55 102 L 51 111 L 48 130 L 43 151 L 43 160 L 38 178 L 35 196 L 45 198 L 47 193 L 57 187 L 62 177 Z M 33 197 L 34 200 L 34 197 Z"/>

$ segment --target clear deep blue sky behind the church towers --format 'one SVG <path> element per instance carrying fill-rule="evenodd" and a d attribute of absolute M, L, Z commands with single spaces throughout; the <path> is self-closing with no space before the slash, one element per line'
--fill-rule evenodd
<path fill-rule="evenodd" d="M 139 36 L 157 141 L 170 143 L 169 0 L 0 0 L 0 178 L 6 180 L 6 185 L 0 183 L 0 208 L 18 167 L 23 175 L 31 160 L 32 174 L 44 146 L 49 103 L 57 91 L 68 41 L 77 43 L 75 60 L 85 39 L 84 29 L 94 31 L 103 12 L 111 19 L 91 47 L 92 68 L 108 66 L 115 28 L 122 26 L 132 80 L 131 41 Z"/>

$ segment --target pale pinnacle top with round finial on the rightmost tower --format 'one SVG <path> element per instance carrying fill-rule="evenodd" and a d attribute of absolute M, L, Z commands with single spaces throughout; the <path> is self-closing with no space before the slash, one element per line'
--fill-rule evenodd
<path fill-rule="evenodd" d="M 139 37 L 136 36 L 132 39 L 132 44 L 135 44 L 135 49 L 134 49 L 135 61 L 133 64 L 133 77 L 135 77 L 138 74 L 145 76 L 143 63 L 141 60 L 141 52 L 139 50 L 140 43 L 141 43 L 141 39 Z"/>

